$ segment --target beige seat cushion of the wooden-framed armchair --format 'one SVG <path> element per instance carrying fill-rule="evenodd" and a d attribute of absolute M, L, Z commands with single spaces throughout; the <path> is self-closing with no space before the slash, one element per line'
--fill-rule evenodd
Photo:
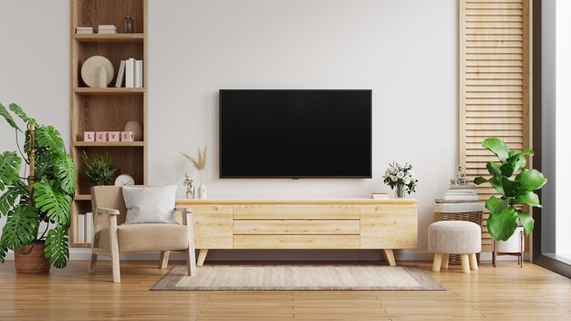
<path fill-rule="evenodd" d="M 187 235 L 186 226 L 179 224 L 121 224 L 117 227 L 120 253 L 185 250 L 189 244 Z M 99 246 L 109 248 L 109 229 L 101 230 Z"/>

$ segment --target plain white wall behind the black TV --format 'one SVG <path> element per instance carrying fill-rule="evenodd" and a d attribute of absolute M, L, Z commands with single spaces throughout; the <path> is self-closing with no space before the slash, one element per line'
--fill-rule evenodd
<path fill-rule="evenodd" d="M 457 161 L 455 0 L 150 0 L 149 9 L 152 184 L 177 183 L 182 196 L 184 172 L 198 174 L 179 151 L 203 145 L 211 150 L 211 198 L 369 197 L 387 190 L 381 175 L 390 161 L 411 162 L 420 212 L 419 249 L 410 253 L 426 252 L 432 201 Z M 40 39 L 32 27 L 14 26 L 23 16 L 42 26 Z M 67 1 L 3 1 L 0 18 L 3 43 L 23 51 L 1 54 L 1 101 L 22 103 L 67 136 Z M 29 52 L 37 48 L 30 38 L 47 45 Z M 46 66 L 26 75 L 15 67 L 44 66 L 43 57 Z M 31 80 L 38 74 L 46 78 Z M 218 179 L 219 88 L 371 88 L 373 179 Z"/>

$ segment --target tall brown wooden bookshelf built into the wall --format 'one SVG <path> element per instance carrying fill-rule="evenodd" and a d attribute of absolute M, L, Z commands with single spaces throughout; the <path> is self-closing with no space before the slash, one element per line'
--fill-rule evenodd
<path fill-rule="evenodd" d="M 91 212 L 91 183 L 84 173 L 81 153 L 89 159 L 109 155 L 119 172 L 130 174 L 137 184 L 147 184 L 148 31 L 147 0 L 70 0 L 71 155 L 78 166 L 78 190 L 71 208 L 70 245 L 89 247 L 77 239 L 77 216 Z M 132 5 L 132 8 L 131 8 Z M 132 34 L 123 32 L 123 18 L 133 19 Z M 77 35 L 77 26 L 115 25 L 118 34 Z M 89 88 L 81 78 L 81 66 L 92 56 L 107 57 L 115 75 L 109 88 Z M 143 60 L 143 88 L 115 88 L 120 60 Z M 133 142 L 83 141 L 84 131 L 122 131 L 128 121 L 139 121 L 143 140 Z"/>

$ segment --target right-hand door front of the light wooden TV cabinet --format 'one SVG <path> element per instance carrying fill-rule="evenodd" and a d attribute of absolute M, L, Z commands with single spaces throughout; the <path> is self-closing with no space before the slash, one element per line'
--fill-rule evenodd
<path fill-rule="evenodd" d="M 417 206 L 361 206 L 362 249 L 417 247 Z"/>

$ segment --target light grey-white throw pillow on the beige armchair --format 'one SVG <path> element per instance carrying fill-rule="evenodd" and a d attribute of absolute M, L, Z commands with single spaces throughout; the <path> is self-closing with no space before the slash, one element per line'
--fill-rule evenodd
<path fill-rule="evenodd" d="M 176 185 L 152 187 L 123 186 L 122 190 L 125 207 L 127 207 L 126 224 L 178 224 L 174 218 Z"/>

